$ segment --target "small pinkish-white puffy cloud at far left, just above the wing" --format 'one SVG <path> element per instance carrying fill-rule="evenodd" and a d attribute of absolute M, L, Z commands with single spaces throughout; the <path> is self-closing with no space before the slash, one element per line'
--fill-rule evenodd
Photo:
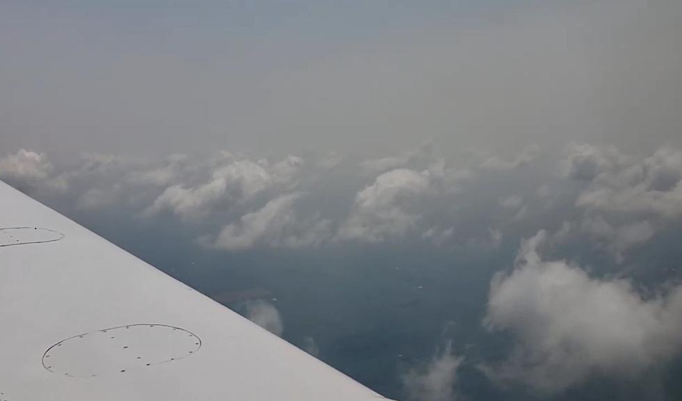
<path fill-rule="evenodd" d="M 14 155 L 0 158 L 0 178 L 27 184 L 46 180 L 52 165 L 43 153 L 19 149 Z"/>

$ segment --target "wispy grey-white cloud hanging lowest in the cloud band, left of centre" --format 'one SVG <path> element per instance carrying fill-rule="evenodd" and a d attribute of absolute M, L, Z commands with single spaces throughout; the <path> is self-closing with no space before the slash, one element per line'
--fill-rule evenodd
<path fill-rule="evenodd" d="M 294 212 L 294 202 L 301 193 L 285 194 L 269 201 L 255 212 L 247 213 L 238 222 L 223 227 L 213 246 L 228 251 L 249 249 L 255 244 L 297 248 L 319 244 L 331 236 L 330 221 L 300 219 Z"/>

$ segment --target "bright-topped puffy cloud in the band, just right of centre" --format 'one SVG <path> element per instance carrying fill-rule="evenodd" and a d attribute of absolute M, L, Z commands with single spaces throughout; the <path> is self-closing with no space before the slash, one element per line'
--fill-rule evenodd
<path fill-rule="evenodd" d="M 434 141 L 359 166 L 374 182 L 356 193 L 336 239 L 379 243 L 417 236 L 436 246 L 450 242 L 454 219 L 446 210 L 459 184 L 474 177 L 468 168 L 446 166 Z"/>

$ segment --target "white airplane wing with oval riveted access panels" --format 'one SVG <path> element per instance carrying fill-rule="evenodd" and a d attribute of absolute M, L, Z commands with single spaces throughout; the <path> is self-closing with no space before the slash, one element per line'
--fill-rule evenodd
<path fill-rule="evenodd" d="M 381 399 L 0 182 L 0 401 Z"/>

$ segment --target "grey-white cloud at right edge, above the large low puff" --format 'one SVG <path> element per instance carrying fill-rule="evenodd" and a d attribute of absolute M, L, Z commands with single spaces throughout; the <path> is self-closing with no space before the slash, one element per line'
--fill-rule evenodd
<path fill-rule="evenodd" d="M 660 148 L 638 159 L 614 147 L 573 145 L 561 162 L 564 176 L 585 182 L 576 200 L 580 230 L 617 261 L 682 217 L 682 152 Z M 617 223 L 611 223 L 617 221 Z"/>

